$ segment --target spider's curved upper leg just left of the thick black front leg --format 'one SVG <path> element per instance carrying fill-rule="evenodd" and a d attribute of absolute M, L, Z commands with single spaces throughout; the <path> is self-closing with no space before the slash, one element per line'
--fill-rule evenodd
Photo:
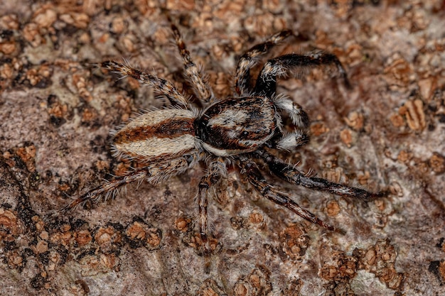
<path fill-rule="evenodd" d="M 263 55 L 267 54 L 275 45 L 281 43 L 282 40 L 289 37 L 291 33 L 291 31 L 286 30 L 272 35 L 264 41 L 264 43 L 255 45 L 240 57 L 235 72 L 235 92 L 239 96 L 248 96 L 252 92 L 252 88 L 250 87 L 250 68 L 257 65 Z"/>

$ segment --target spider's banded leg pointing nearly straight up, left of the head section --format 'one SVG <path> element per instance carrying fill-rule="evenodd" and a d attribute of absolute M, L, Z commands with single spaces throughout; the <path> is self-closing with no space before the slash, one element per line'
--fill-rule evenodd
<path fill-rule="evenodd" d="M 186 78 L 191 81 L 191 85 L 193 86 L 193 90 L 198 96 L 199 99 L 202 99 L 203 102 L 212 102 L 213 101 L 213 91 L 206 81 L 205 77 L 200 69 L 195 65 L 193 60 L 190 57 L 190 52 L 186 48 L 186 44 L 181 37 L 181 33 L 179 33 L 178 28 L 171 23 L 171 31 L 173 31 L 173 36 L 176 41 L 176 46 L 178 46 L 179 53 L 181 54 L 183 64 L 184 64 L 184 74 Z"/>

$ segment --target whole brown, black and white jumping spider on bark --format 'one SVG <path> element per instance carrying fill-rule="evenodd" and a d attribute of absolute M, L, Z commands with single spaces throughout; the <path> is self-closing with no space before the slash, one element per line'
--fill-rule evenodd
<path fill-rule="evenodd" d="M 303 209 L 289 196 L 269 185 L 256 161 L 267 165 L 277 177 L 294 185 L 321 190 L 344 197 L 371 200 L 385 193 L 372 193 L 355 187 L 309 177 L 264 148 L 291 150 L 306 144 L 309 119 L 306 112 L 282 95 L 277 95 L 277 78 L 299 68 L 334 65 L 346 84 L 346 72 L 336 55 L 316 52 L 299 55 L 291 53 L 267 60 L 251 87 L 250 69 L 271 48 L 291 35 L 282 31 L 272 35 L 264 43 L 255 45 L 240 57 L 235 72 L 235 95 L 225 99 L 215 98 L 212 89 L 198 70 L 183 43 L 176 26 L 171 26 L 176 45 L 183 60 L 184 75 L 190 80 L 196 97 L 203 109 L 196 109 L 171 82 L 156 75 L 147 74 L 118 62 L 102 62 L 104 69 L 124 77 L 133 77 L 141 84 L 153 87 L 163 94 L 174 107 L 156 109 L 141 114 L 117 131 L 112 131 L 114 157 L 129 158 L 144 164 L 127 175 L 116 177 L 75 199 L 60 212 L 68 212 L 78 204 L 100 197 L 109 197 L 128 183 L 146 180 L 151 184 L 167 180 L 173 175 L 186 172 L 203 161 L 207 172 L 200 180 L 196 199 L 199 205 L 198 223 L 203 252 L 210 250 L 208 226 L 208 197 L 210 188 L 217 185 L 227 174 L 227 165 L 234 165 L 247 177 L 250 184 L 264 197 L 290 209 L 312 223 L 335 230 L 311 212 Z M 294 130 L 284 131 L 281 112 L 289 114 Z"/>

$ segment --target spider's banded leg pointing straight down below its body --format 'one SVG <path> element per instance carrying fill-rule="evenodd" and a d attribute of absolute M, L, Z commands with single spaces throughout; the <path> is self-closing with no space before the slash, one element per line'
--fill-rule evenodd
<path fill-rule="evenodd" d="M 216 185 L 222 176 L 225 176 L 227 169 L 222 158 L 218 158 L 208 166 L 208 172 L 201 178 L 198 186 L 198 199 L 199 206 L 199 234 L 201 238 L 203 254 L 208 255 L 212 249 L 208 239 L 210 238 L 210 227 L 208 224 L 208 190 Z"/>

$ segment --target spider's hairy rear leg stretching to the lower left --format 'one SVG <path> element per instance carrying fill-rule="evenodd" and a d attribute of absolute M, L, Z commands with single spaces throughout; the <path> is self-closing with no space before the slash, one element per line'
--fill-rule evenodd
<path fill-rule="evenodd" d="M 186 171 L 188 168 L 188 161 L 184 158 L 176 158 L 165 163 L 156 163 L 149 165 L 145 168 L 136 168 L 132 172 L 123 175 L 122 177 L 116 177 L 115 179 L 96 187 L 93 190 L 83 194 L 82 196 L 75 199 L 73 202 L 68 204 L 68 206 L 60 209 L 60 211 L 51 214 L 50 216 L 60 216 L 61 214 L 66 214 L 71 210 L 75 209 L 80 204 L 85 204 L 86 202 L 98 202 L 101 197 L 107 199 L 109 196 L 114 196 L 119 189 L 124 185 L 127 185 L 136 181 L 143 181 L 146 179 L 152 184 L 156 184 L 160 180 L 165 180 L 173 175 L 178 175 L 181 172 Z"/>

